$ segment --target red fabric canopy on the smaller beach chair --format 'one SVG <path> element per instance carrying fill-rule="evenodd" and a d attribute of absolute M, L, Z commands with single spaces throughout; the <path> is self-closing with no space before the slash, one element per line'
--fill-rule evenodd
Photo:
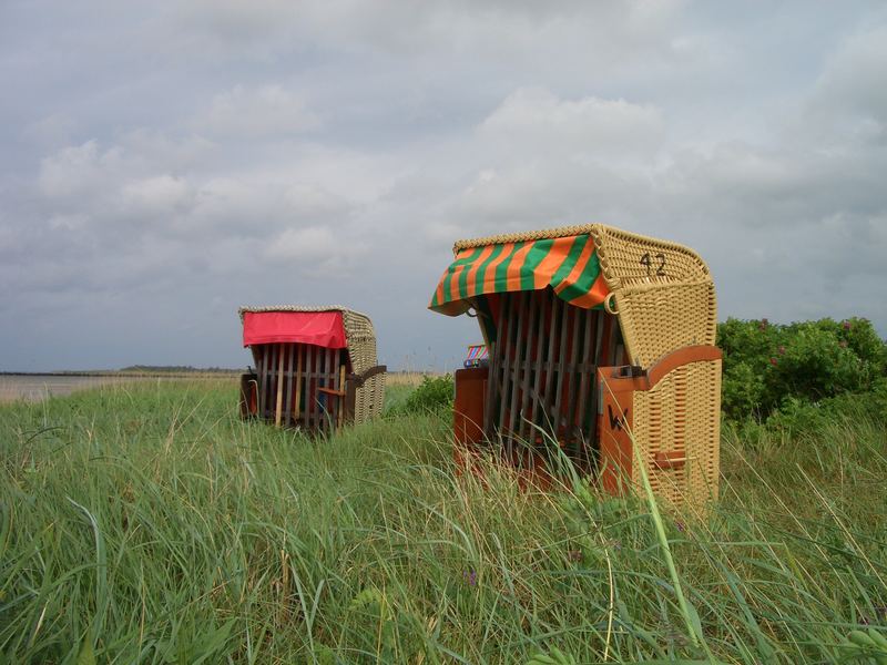
<path fill-rule="evenodd" d="M 340 311 L 245 311 L 243 346 L 295 341 L 344 349 Z"/>

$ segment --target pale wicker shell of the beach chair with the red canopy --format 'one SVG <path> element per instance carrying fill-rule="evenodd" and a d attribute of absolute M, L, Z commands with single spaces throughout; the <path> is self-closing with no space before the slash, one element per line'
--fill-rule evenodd
<path fill-rule="evenodd" d="M 363 374 L 378 365 L 376 357 L 376 330 L 373 321 L 365 314 L 348 309 L 340 305 L 303 306 L 277 305 L 263 307 L 241 307 L 241 320 L 247 311 L 340 311 L 341 323 L 345 327 L 345 338 L 348 342 L 348 358 L 351 361 L 351 371 Z M 365 422 L 381 413 L 385 401 L 385 374 L 379 374 L 357 388 L 355 395 L 355 422 Z"/>

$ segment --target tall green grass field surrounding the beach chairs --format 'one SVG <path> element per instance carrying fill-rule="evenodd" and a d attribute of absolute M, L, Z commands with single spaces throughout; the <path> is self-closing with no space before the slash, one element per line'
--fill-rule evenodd
<path fill-rule="evenodd" d="M 662 508 L 660 533 L 643 500 L 458 479 L 445 417 L 307 440 L 235 407 L 231 381 L 0 406 L 6 662 L 887 657 L 887 437 L 865 417 L 725 428 L 721 501 Z"/>

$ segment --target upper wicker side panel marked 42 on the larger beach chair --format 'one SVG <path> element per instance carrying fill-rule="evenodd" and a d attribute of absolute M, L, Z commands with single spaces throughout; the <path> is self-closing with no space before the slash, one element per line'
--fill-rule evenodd
<path fill-rule="evenodd" d="M 714 345 L 714 283 L 695 252 L 601 224 L 591 234 L 632 365 L 650 367 L 681 347 Z"/>

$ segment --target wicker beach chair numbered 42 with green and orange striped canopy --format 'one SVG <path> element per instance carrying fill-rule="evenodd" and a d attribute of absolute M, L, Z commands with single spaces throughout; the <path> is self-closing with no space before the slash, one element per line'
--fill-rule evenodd
<path fill-rule="evenodd" d="M 456 372 L 460 463 L 492 447 L 539 478 L 562 453 L 612 493 L 640 489 L 643 464 L 673 503 L 717 495 L 716 304 L 694 252 L 592 224 L 453 254 L 429 308 L 473 311 L 490 356 Z"/>

